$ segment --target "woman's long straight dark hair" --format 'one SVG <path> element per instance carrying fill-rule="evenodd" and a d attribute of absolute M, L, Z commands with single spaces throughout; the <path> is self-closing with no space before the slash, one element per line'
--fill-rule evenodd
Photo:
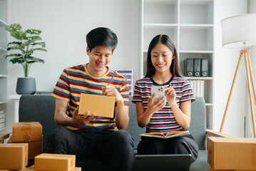
<path fill-rule="evenodd" d="M 170 37 L 165 34 L 158 34 L 158 36 L 155 36 L 149 44 L 147 56 L 147 72 L 145 74 L 145 77 L 153 76 L 153 74 L 155 73 L 155 67 L 153 66 L 151 61 L 151 51 L 158 43 L 163 43 L 165 46 L 170 48 L 170 51 L 172 51 L 174 56 L 172 64 L 170 65 L 170 73 L 172 73 L 173 76 L 181 77 L 182 73 L 180 72 L 180 68 L 178 65 L 178 53 L 176 47 Z"/>

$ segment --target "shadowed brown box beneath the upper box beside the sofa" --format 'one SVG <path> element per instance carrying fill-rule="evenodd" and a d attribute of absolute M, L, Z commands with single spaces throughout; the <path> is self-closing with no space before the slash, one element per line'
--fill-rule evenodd
<path fill-rule="evenodd" d="M 43 139 L 43 135 L 42 135 Z M 14 143 L 12 137 L 9 139 L 7 143 Z M 24 143 L 24 142 L 15 142 L 15 143 Z M 34 160 L 36 155 L 40 155 L 43 152 L 43 141 L 31 141 L 29 144 L 29 160 Z"/>

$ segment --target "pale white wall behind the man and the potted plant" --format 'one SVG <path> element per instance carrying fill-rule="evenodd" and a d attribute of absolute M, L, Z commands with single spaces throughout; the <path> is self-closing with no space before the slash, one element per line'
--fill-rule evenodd
<path fill-rule="evenodd" d="M 42 31 L 48 52 L 36 57 L 46 62 L 31 66 L 38 91 L 51 91 L 64 68 L 88 62 L 85 36 L 91 29 L 105 26 L 117 33 L 118 46 L 111 68 L 133 68 L 139 78 L 140 1 L 138 0 L 9 0 L 8 22 Z M 9 37 L 9 41 L 12 39 Z M 137 62 L 138 61 L 138 62 Z M 16 80 L 23 77 L 21 65 L 8 64 L 8 96 L 16 94 Z M 8 100 L 7 129 L 14 120 L 14 102 Z"/>

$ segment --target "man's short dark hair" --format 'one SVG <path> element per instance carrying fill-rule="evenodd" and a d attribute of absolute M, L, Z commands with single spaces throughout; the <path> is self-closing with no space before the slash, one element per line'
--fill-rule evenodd
<path fill-rule="evenodd" d="M 86 35 L 86 43 L 90 51 L 95 46 L 106 46 L 111 47 L 113 52 L 118 45 L 118 37 L 111 29 L 98 27 Z"/>

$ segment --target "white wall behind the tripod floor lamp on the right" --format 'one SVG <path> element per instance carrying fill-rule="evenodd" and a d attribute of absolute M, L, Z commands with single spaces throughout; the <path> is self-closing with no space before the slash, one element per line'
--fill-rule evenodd
<path fill-rule="evenodd" d="M 240 49 L 222 48 L 222 30 L 220 21 L 229 16 L 247 13 L 247 0 L 215 0 L 215 80 L 213 130 L 220 130 L 230 93 L 233 76 L 240 56 Z M 230 107 L 222 133 L 234 137 L 244 137 L 246 80 L 245 62 L 242 60 L 237 81 L 232 93 Z"/>

